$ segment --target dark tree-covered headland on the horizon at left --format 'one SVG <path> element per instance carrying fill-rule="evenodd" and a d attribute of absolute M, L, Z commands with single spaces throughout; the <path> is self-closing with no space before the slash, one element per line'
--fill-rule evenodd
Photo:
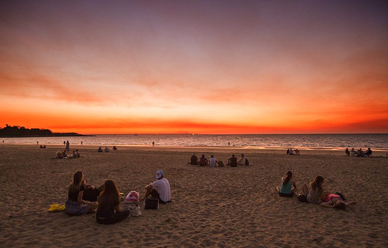
<path fill-rule="evenodd" d="M 6 124 L 0 127 L 0 137 L 69 137 L 69 136 L 95 136 L 82 135 L 78 133 L 53 133 L 49 129 L 25 128 L 24 126 L 10 126 Z"/>

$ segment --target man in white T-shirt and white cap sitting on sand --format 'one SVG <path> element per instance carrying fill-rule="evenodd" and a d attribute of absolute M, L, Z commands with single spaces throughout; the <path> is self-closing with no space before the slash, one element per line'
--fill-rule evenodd
<path fill-rule="evenodd" d="M 153 183 L 150 183 L 146 186 L 146 194 L 144 198 L 140 198 L 139 200 L 144 200 L 150 195 L 153 198 L 159 199 L 159 203 L 171 202 L 171 192 L 170 192 L 170 184 L 168 180 L 164 178 L 163 171 L 156 171 L 157 180 Z"/>

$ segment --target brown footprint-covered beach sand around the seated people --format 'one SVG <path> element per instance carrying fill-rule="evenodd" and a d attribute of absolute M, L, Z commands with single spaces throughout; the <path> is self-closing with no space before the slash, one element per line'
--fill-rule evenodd
<path fill-rule="evenodd" d="M 285 150 L 118 146 L 97 153 L 96 146 L 70 145 L 81 158 L 51 159 L 59 148 L 0 145 L 0 247 L 388 247 L 386 152 L 361 158 L 331 150 L 290 156 Z M 251 165 L 188 165 L 193 152 L 225 164 L 231 154 L 244 153 Z M 50 204 L 65 204 L 78 170 L 94 186 L 113 179 L 124 195 L 143 195 L 163 170 L 173 202 L 142 207 L 142 216 L 113 225 L 98 224 L 95 214 L 49 213 Z M 288 170 L 298 193 L 302 183 L 322 175 L 326 190 L 357 204 L 342 211 L 279 197 L 275 187 Z"/>

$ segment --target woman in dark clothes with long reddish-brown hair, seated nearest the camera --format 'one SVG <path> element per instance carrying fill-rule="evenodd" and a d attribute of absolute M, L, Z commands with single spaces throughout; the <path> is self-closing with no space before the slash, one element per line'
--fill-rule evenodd
<path fill-rule="evenodd" d="M 105 189 L 98 198 L 96 220 L 100 224 L 114 224 L 129 216 L 129 210 L 121 211 L 120 192 L 113 180 L 105 181 Z"/>

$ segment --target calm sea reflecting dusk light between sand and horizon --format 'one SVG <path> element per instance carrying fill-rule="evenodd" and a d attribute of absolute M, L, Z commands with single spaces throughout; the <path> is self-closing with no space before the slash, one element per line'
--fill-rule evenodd
<path fill-rule="evenodd" d="M 252 134 L 252 135 L 191 135 L 191 134 L 101 134 L 90 137 L 0 138 L 4 143 L 158 146 L 244 146 L 258 148 L 381 148 L 388 150 L 388 134 Z"/>

